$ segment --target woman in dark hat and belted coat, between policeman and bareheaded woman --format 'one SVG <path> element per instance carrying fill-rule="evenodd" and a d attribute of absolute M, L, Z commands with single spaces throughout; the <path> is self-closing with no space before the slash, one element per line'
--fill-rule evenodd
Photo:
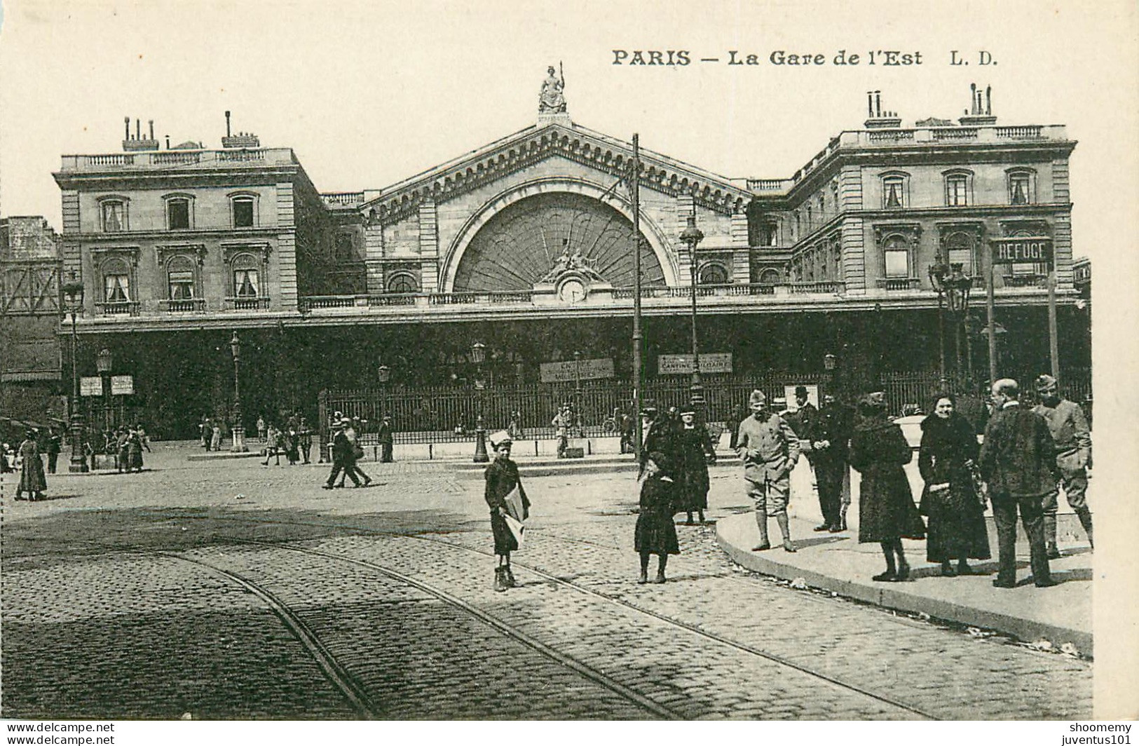
<path fill-rule="evenodd" d="M 862 474 L 858 540 L 882 544 L 886 572 L 874 580 L 902 581 L 910 575 L 902 539 L 925 538 L 925 525 L 902 469 L 913 454 L 902 428 L 886 417 L 885 394 L 865 396 L 859 402 L 859 413 L 850 450 L 851 466 Z"/>

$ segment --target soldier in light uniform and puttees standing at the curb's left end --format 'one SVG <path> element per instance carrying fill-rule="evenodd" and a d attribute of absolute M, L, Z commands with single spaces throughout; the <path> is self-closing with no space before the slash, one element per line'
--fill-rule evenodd
<path fill-rule="evenodd" d="M 747 401 L 752 416 L 739 424 L 736 451 L 744 461 L 744 486 L 755 501 L 760 543 L 753 551 L 771 548 L 768 517 L 775 516 L 782 533 L 784 549 L 795 551 L 787 525 L 790 473 L 798 462 L 798 436 L 784 418 L 768 409 L 767 396 L 755 390 Z"/>

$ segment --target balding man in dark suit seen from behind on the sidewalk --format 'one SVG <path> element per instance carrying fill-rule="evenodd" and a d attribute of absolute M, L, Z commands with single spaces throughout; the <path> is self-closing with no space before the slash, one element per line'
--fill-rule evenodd
<path fill-rule="evenodd" d="M 989 483 L 997 523 L 999 571 L 993 585 L 1016 587 L 1016 514 L 1029 535 L 1032 577 L 1039 588 L 1055 585 L 1044 547 L 1043 499 L 1058 478 L 1056 448 L 1048 423 L 1021 407 L 1021 391 L 1011 378 L 993 384 L 997 411 L 985 427 L 977 466 Z"/>

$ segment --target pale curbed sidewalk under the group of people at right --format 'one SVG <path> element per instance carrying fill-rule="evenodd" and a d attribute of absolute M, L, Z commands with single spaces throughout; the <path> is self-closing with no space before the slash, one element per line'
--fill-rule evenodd
<path fill-rule="evenodd" d="M 852 506 L 857 510 L 858 506 Z M 991 524 L 991 522 L 990 522 Z M 1054 588 L 1036 588 L 1027 580 L 1027 542 L 1017 541 L 1017 575 L 1014 589 L 992 587 L 997 573 L 997 536 L 990 525 L 993 559 L 973 560 L 978 575 L 942 577 L 939 565 L 925 561 L 924 541 L 903 541 L 913 569 L 900 583 L 870 579 L 885 568 L 877 543 L 858 543 L 858 531 L 838 534 L 814 533 L 814 520 L 793 518 L 792 536 L 798 551 L 779 544 L 752 551 L 759 539 L 754 513 L 721 518 L 716 523 L 720 547 L 741 566 L 788 581 L 802 579 L 806 585 L 833 591 L 868 604 L 931 617 L 995 630 L 1021 640 L 1049 640 L 1059 648 L 1071 642 L 1084 656 L 1092 655 L 1091 580 L 1092 555 L 1085 543 L 1062 546 L 1065 556 L 1050 563 Z M 775 520 L 771 530 L 778 535 Z"/>

